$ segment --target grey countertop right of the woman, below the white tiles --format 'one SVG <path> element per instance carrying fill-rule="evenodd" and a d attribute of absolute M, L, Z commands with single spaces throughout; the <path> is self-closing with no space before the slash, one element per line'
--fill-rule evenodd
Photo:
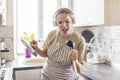
<path fill-rule="evenodd" d="M 120 80 L 120 69 L 107 63 L 86 63 L 81 73 L 92 80 Z"/>

